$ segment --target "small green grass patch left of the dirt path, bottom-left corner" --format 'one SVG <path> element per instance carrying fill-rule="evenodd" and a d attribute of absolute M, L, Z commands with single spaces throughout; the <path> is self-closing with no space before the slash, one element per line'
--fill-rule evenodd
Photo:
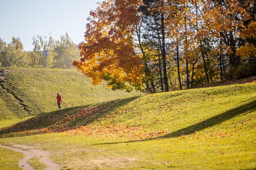
<path fill-rule="evenodd" d="M 21 170 L 18 162 L 23 157 L 20 152 L 0 147 L 0 170 Z"/>

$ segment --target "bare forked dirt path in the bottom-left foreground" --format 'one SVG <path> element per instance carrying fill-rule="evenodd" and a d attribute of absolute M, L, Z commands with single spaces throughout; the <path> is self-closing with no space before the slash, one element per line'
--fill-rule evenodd
<path fill-rule="evenodd" d="M 40 161 L 46 166 L 45 170 L 61 169 L 61 167 L 57 163 L 54 163 L 49 158 L 49 152 L 46 152 L 44 150 L 38 150 L 38 149 L 34 149 L 34 147 L 32 146 L 25 146 L 25 145 L 18 145 L 18 144 L 13 144 L 13 147 L 4 146 L 0 144 L 0 147 L 11 149 L 16 152 L 22 152 L 25 155 L 25 157 L 19 161 L 19 166 L 23 170 L 34 170 L 34 168 L 31 165 L 29 165 L 29 163 L 27 162 L 27 160 L 34 157 L 40 158 Z"/>

